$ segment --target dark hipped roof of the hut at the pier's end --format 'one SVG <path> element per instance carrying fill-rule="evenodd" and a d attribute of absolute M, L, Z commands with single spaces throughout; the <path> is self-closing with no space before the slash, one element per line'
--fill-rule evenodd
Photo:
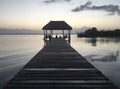
<path fill-rule="evenodd" d="M 72 30 L 72 27 L 69 26 L 65 21 L 50 21 L 42 29 L 43 30 Z"/>

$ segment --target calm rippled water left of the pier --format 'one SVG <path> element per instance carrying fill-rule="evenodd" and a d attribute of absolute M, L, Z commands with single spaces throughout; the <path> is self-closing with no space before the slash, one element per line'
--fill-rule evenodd
<path fill-rule="evenodd" d="M 0 89 L 43 47 L 42 35 L 0 35 Z"/>

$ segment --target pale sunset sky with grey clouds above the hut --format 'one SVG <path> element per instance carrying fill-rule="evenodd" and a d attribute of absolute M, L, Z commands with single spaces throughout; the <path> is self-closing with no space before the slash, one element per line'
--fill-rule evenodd
<path fill-rule="evenodd" d="M 120 29 L 120 0 L 0 0 L 0 28 L 39 30 L 51 20 Z"/>

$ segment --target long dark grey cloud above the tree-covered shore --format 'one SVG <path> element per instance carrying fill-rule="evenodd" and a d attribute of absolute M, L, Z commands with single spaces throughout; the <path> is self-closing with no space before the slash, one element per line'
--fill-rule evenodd
<path fill-rule="evenodd" d="M 72 9 L 73 12 L 80 12 L 83 10 L 102 10 L 109 12 L 109 15 L 115 15 L 115 13 L 120 15 L 120 9 L 118 5 L 92 6 L 92 1 L 88 1 L 84 5 Z"/>

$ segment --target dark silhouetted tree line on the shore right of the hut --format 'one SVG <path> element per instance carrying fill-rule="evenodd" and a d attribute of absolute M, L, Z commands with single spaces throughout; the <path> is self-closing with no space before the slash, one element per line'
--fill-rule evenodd
<path fill-rule="evenodd" d="M 78 33 L 78 37 L 120 37 L 120 29 L 115 30 L 101 30 L 98 31 L 96 27 L 86 30 L 84 33 Z"/>

